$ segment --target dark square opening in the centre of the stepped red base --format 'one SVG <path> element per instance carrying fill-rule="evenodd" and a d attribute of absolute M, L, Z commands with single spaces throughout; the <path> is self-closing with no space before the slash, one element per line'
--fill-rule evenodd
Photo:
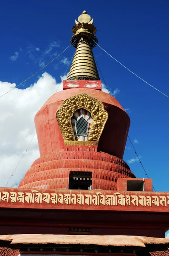
<path fill-rule="evenodd" d="M 69 189 L 92 189 L 92 172 L 70 172 Z"/>

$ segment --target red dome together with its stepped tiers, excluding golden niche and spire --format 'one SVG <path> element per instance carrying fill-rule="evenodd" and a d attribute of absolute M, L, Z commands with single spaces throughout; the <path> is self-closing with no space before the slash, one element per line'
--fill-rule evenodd
<path fill-rule="evenodd" d="M 98 146 L 65 146 L 56 111 L 65 99 L 82 92 L 103 103 L 108 119 Z M 113 96 L 83 88 L 60 91 L 38 111 L 35 126 L 41 157 L 32 164 L 19 187 L 69 189 L 70 172 L 90 172 L 92 189 L 116 190 L 119 177 L 135 177 L 122 160 L 130 118 Z"/>

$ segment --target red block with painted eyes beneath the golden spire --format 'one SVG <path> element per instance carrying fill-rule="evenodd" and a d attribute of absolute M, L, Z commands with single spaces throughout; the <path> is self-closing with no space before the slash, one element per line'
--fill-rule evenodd
<path fill-rule="evenodd" d="M 73 89 L 73 88 L 86 88 L 86 89 L 95 89 L 101 90 L 101 81 L 95 80 L 63 80 L 63 90 Z"/>

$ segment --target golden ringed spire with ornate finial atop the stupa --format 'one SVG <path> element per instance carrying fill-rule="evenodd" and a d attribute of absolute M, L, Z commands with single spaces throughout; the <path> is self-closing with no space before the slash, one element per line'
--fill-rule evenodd
<path fill-rule="evenodd" d="M 92 48 L 96 47 L 96 28 L 86 11 L 79 16 L 73 26 L 71 44 L 76 47 L 67 80 L 100 80 Z"/>

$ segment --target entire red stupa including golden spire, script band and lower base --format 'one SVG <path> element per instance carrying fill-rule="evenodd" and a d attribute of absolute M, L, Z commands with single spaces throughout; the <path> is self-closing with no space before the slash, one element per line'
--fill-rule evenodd
<path fill-rule="evenodd" d="M 124 162 L 130 118 L 101 90 L 93 19 L 75 23 L 63 90 L 35 116 L 40 157 L 0 188 L 0 255 L 169 255 L 169 192 Z"/>

